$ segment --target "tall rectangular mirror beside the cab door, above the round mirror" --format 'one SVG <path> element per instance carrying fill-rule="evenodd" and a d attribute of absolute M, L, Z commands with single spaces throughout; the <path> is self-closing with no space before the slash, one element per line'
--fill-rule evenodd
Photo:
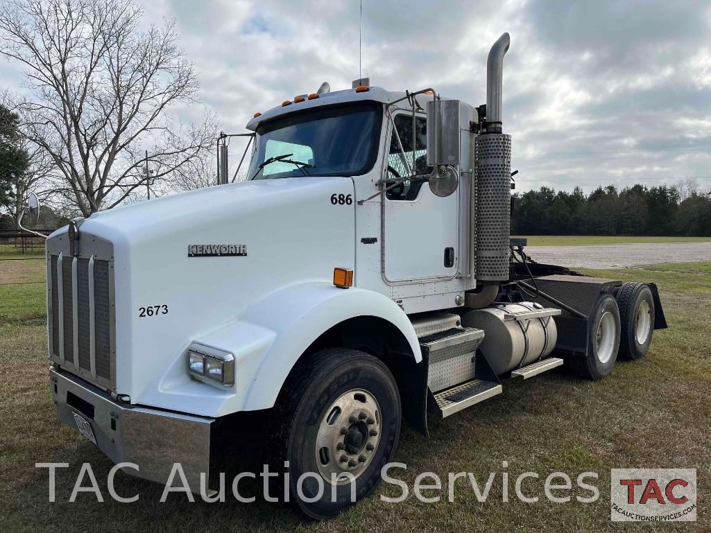
<path fill-rule="evenodd" d="M 459 100 L 435 97 L 427 102 L 427 166 L 444 165 L 459 165 Z"/>

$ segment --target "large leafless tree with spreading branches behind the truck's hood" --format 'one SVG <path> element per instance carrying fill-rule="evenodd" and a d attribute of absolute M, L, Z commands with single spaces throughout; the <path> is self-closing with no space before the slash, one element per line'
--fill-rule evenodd
<path fill-rule="evenodd" d="M 174 24 L 143 31 L 142 16 L 132 0 L 9 0 L 0 8 L 0 53 L 23 65 L 31 93 L 16 106 L 23 132 L 53 161 L 57 192 L 85 216 L 166 179 L 215 138 L 209 115 L 198 126 L 169 117 L 169 108 L 198 102 L 196 71 Z"/>

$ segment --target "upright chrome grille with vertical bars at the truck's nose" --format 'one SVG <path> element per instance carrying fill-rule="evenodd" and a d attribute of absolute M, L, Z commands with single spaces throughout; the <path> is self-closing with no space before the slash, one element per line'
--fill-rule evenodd
<path fill-rule="evenodd" d="M 81 235 L 80 254 L 69 254 L 67 235 L 48 240 L 50 359 L 63 369 L 115 390 L 113 247 Z"/>

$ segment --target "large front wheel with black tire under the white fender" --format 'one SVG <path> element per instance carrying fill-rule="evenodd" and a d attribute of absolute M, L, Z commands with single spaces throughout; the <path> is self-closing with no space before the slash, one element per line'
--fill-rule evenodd
<path fill-rule="evenodd" d="M 277 472 L 289 461 L 289 501 L 301 512 L 333 517 L 375 490 L 397 448 L 401 421 L 400 393 L 383 362 L 358 350 L 322 350 L 289 377 L 278 409 L 272 460 Z M 345 472 L 355 479 L 331 483 Z M 318 496 L 319 485 L 321 497 L 305 501 Z"/>

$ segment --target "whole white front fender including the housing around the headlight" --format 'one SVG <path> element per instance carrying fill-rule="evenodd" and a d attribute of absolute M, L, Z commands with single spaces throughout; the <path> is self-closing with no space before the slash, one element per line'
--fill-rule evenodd
<path fill-rule="evenodd" d="M 358 316 L 375 316 L 395 325 L 410 343 L 415 361 L 422 360 L 410 319 L 390 298 L 314 281 L 279 289 L 235 321 L 193 338 L 232 353 L 232 387 L 214 387 L 188 377 L 183 352 L 166 370 L 158 389 L 141 403 L 211 417 L 269 409 L 306 348 L 334 325 Z"/>

